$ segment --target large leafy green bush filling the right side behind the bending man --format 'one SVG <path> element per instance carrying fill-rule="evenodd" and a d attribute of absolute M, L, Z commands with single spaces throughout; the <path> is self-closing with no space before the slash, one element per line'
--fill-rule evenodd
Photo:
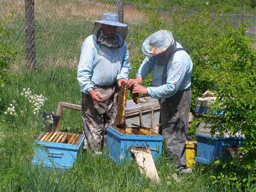
<path fill-rule="evenodd" d="M 237 175 L 232 182 L 249 188 L 256 181 L 256 52 L 251 47 L 255 41 L 245 35 L 245 27 L 241 24 L 233 29 L 219 19 L 219 15 L 207 12 L 200 15 L 180 13 L 172 16 L 171 31 L 191 51 L 192 104 L 206 90 L 214 90 L 218 93 L 216 112 L 225 110 L 225 114 L 217 118 L 212 133 L 218 127 L 222 131 L 245 135 L 245 144 L 239 148 L 242 158 L 223 164 L 227 168 L 223 182 L 227 182 L 229 176 Z M 232 182 L 229 180 L 228 183 Z"/>

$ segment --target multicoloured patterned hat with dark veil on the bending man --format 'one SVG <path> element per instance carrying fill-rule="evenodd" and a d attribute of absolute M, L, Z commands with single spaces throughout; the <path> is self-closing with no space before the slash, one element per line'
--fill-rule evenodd
<path fill-rule="evenodd" d="M 167 65 L 176 49 L 176 43 L 172 33 L 160 30 L 148 38 L 142 44 L 142 52 L 155 65 Z"/>

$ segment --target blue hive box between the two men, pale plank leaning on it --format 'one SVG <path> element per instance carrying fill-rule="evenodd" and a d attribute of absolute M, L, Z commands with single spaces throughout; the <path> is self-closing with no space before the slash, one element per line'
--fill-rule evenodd
<path fill-rule="evenodd" d="M 123 164 L 132 156 L 130 149 L 145 147 L 152 151 L 153 160 L 156 161 L 162 153 L 162 135 L 138 135 L 139 128 L 127 127 L 123 129 L 128 134 L 121 133 L 113 127 L 107 128 L 107 153 L 112 161 Z"/>

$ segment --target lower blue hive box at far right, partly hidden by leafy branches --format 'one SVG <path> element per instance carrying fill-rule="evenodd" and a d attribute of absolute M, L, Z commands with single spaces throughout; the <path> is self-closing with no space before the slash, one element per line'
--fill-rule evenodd
<path fill-rule="evenodd" d="M 204 128 L 203 128 L 204 127 Z M 211 124 L 209 122 L 201 123 L 196 130 L 196 157 L 197 163 L 209 164 L 214 160 L 225 160 L 231 157 L 227 147 L 237 147 L 244 143 L 242 135 L 227 136 L 215 134 L 213 137 L 210 133 Z"/>

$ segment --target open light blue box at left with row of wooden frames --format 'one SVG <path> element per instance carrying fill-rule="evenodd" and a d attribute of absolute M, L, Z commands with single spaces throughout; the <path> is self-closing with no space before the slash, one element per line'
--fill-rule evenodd
<path fill-rule="evenodd" d="M 66 137 L 65 140 L 63 140 L 63 143 L 60 143 L 61 140 L 59 139 L 58 141 L 58 138 L 52 138 L 51 141 L 45 141 L 43 139 L 43 137 L 45 137 L 45 133 L 40 134 L 34 141 L 36 147 L 34 152 L 34 160 L 32 160 L 33 165 L 43 165 L 44 167 L 61 169 L 67 169 L 73 166 L 77 159 L 78 152 L 83 146 L 84 135 L 62 132 L 55 133 L 57 133 L 56 137 L 59 135 L 60 138 L 61 134 L 63 134 L 62 139 Z M 69 141 L 72 140 L 73 135 L 74 142 L 71 144 Z M 59 143 L 57 143 L 57 141 Z"/>

